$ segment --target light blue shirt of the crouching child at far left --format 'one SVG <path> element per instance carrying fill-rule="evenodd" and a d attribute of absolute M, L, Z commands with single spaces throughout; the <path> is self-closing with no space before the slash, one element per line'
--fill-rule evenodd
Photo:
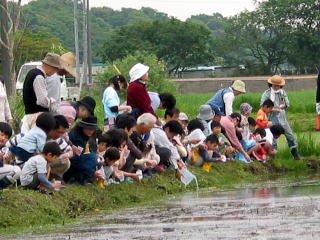
<path fill-rule="evenodd" d="M 18 147 L 29 153 L 41 153 L 47 141 L 47 134 L 39 127 L 32 128 L 18 143 Z"/>

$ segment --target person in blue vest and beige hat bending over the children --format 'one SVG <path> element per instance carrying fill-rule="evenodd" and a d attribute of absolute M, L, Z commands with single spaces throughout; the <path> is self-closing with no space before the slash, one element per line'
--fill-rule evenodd
<path fill-rule="evenodd" d="M 208 102 L 212 110 L 220 116 L 230 115 L 235 96 L 245 93 L 246 85 L 241 80 L 235 80 L 231 87 L 220 89 Z"/>

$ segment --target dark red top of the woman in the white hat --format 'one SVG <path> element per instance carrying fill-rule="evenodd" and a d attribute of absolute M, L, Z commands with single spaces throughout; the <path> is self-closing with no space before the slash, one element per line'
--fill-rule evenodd
<path fill-rule="evenodd" d="M 156 116 L 151 107 L 151 100 L 147 92 L 146 85 L 139 80 L 129 84 L 127 90 L 127 105 L 131 106 L 132 109 L 140 109 L 140 114 L 151 113 Z"/>

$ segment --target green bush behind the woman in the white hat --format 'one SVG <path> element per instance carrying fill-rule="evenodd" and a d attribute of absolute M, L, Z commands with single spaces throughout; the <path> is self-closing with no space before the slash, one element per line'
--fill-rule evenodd
<path fill-rule="evenodd" d="M 116 60 L 113 62 L 113 64 L 129 81 L 129 70 L 138 62 L 146 64 L 150 67 L 149 81 L 147 83 L 149 91 L 158 93 L 167 92 L 172 94 L 177 92 L 176 84 L 169 80 L 165 64 L 158 61 L 154 54 L 137 51 L 134 55 L 128 55 L 123 59 Z M 105 72 L 98 75 L 98 79 L 101 82 L 108 82 L 109 79 L 115 74 L 117 74 L 116 70 L 112 67 L 112 65 L 110 65 Z"/>

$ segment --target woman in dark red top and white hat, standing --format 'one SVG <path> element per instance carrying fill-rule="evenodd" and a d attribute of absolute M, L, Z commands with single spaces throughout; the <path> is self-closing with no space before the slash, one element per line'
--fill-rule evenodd
<path fill-rule="evenodd" d="M 142 63 L 137 63 L 129 71 L 130 84 L 127 91 L 127 105 L 132 107 L 132 115 L 135 118 L 143 113 L 151 113 L 156 116 L 146 89 L 146 82 L 149 79 L 148 71 L 149 67 Z"/>

